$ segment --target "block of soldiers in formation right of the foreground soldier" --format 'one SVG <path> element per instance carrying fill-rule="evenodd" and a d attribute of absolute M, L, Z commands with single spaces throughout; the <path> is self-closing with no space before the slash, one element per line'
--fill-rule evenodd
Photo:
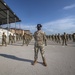
<path fill-rule="evenodd" d="M 68 41 L 75 42 L 75 33 L 67 34 L 66 32 L 64 32 L 63 34 L 58 33 L 58 34 L 47 35 L 47 40 L 51 40 L 61 45 L 67 46 Z"/>

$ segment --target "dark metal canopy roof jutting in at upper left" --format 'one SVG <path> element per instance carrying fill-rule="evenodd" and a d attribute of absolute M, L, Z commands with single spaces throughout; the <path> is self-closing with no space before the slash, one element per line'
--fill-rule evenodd
<path fill-rule="evenodd" d="M 15 23 L 20 21 L 8 5 L 3 0 L 0 0 L 0 25 L 7 24 L 7 22 Z"/>

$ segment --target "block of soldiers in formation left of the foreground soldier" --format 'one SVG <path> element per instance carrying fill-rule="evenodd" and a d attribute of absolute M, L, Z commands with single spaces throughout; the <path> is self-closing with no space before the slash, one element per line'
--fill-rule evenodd
<path fill-rule="evenodd" d="M 7 46 L 7 45 L 13 44 L 17 41 L 20 41 L 20 40 L 23 41 L 22 45 L 25 44 L 26 46 L 28 46 L 32 37 L 33 36 L 31 34 L 27 34 L 27 33 L 24 33 L 24 35 L 19 35 L 19 34 L 16 34 L 16 35 L 13 34 L 12 35 L 10 33 L 8 36 L 8 40 L 7 40 L 7 36 L 6 36 L 5 32 L 3 32 L 3 34 L 2 34 L 2 46 L 3 45 Z"/>

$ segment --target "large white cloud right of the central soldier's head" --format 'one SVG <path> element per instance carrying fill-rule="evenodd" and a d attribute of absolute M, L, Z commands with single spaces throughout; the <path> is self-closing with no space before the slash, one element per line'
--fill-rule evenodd
<path fill-rule="evenodd" d="M 47 32 L 47 34 L 74 32 L 75 31 L 75 18 L 67 17 L 67 18 L 45 23 L 43 24 L 43 29 Z"/>

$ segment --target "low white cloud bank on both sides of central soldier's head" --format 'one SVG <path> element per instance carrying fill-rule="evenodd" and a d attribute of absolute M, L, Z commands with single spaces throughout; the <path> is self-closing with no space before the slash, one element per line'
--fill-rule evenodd
<path fill-rule="evenodd" d="M 46 34 L 63 32 L 72 33 L 75 32 L 75 17 L 66 17 L 55 21 L 50 21 L 42 25 L 42 29 L 46 32 Z M 15 24 L 11 24 L 11 26 L 15 27 Z M 16 24 L 16 28 L 19 28 L 19 24 Z M 36 31 L 36 25 L 31 24 L 21 24 L 20 28 L 30 30 L 32 33 Z"/>

